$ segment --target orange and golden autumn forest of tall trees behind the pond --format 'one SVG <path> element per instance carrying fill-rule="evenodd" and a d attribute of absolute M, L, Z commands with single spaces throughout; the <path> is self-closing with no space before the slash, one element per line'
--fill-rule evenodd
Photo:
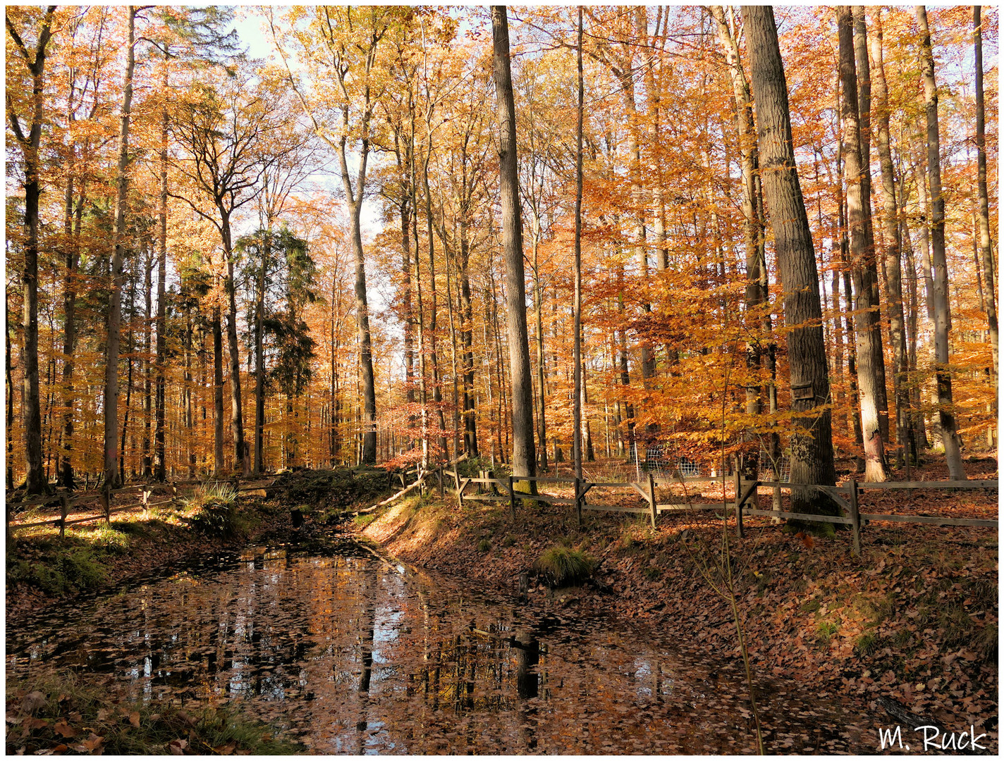
<path fill-rule="evenodd" d="M 992 8 L 6 29 L 8 490 L 996 450 Z"/>

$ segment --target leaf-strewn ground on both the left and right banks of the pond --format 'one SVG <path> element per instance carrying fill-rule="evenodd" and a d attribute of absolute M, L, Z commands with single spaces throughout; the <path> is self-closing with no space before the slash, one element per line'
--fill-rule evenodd
<path fill-rule="evenodd" d="M 974 459 L 966 466 L 971 479 L 997 477 L 994 460 Z M 906 474 L 894 476 L 906 479 Z M 947 472 L 936 463 L 915 470 L 912 478 L 945 480 Z M 118 514 L 109 526 L 69 527 L 63 540 L 52 526 L 18 531 L 16 544 L 7 548 L 8 620 L 65 604 L 81 591 L 104 593 L 188 556 L 283 536 L 290 530 L 292 508 L 300 508 L 317 527 L 337 524 L 346 511 L 386 495 L 387 483 L 379 473 L 284 474 L 274 481 L 285 487 L 281 491 L 240 498 L 246 531 L 229 540 L 195 531 L 183 520 L 183 505 Z M 551 485 L 546 491 L 570 496 Z M 619 496 L 597 491 L 590 492 L 590 500 L 641 502 L 626 490 Z M 676 487 L 665 491 L 682 494 Z M 762 506 L 770 504 L 769 494 L 761 490 Z M 731 484 L 702 485 L 701 494 L 687 497 L 730 500 Z M 860 509 L 998 517 L 997 495 L 986 491 L 865 492 Z M 723 522 L 715 511 L 663 513 L 656 529 L 645 516 L 585 512 L 579 527 L 568 505 L 520 504 L 513 522 L 507 500 L 465 501 L 458 508 L 455 498 L 439 499 L 434 490 L 357 515 L 347 524 L 359 539 L 405 561 L 509 588 L 514 597 L 520 574 L 529 571 L 532 605 L 583 616 L 612 611 L 664 628 L 691 654 L 713 651 L 739 658 L 729 602 L 700 572 L 702 564 L 721 559 Z M 872 522 L 863 528 L 858 558 L 850 553 L 849 532 L 823 539 L 785 533 L 769 518 L 747 518 L 745 525 L 742 540 L 734 538 L 734 519 L 727 530 L 755 675 L 798 682 L 820 700 L 853 701 L 873 712 L 883 726 L 911 721 L 902 718 L 904 711 L 949 731 L 973 725 L 977 733 L 986 733 L 982 742 L 996 747 L 994 529 Z M 594 559 L 585 586 L 552 590 L 535 575 L 536 561 L 555 546 L 579 549 Z M 11 699 L 23 696 L 9 693 Z M 889 708 L 898 713 L 887 716 Z"/>

